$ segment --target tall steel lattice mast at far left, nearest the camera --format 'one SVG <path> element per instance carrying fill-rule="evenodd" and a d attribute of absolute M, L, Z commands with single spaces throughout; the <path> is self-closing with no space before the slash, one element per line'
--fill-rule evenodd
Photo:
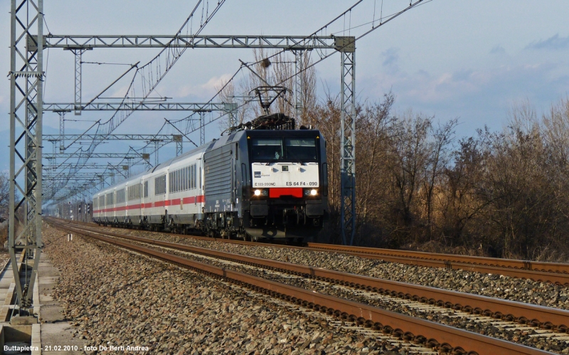
<path fill-rule="evenodd" d="M 20 309 L 31 307 L 41 253 L 43 0 L 11 1 L 8 248 Z M 33 33 L 35 32 L 35 33 Z M 16 201 L 16 189 L 21 194 Z M 26 253 L 21 280 L 16 253 Z M 31 263 L 28 267 L 28 263 Z M 27 275 L 27 273 L 25 274 Z"/>

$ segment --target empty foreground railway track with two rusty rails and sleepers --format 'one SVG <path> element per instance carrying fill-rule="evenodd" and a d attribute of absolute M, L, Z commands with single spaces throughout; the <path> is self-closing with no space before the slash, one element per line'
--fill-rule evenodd
<path fill-rule="evenodd" d="M 53 221 L 51 223 L 56 224 Z M 102 235 L 103 233 L 84 231 L 84 230 L 82 231 L 80 230 L 80 228 L 72 228 L 70 226 L 63 226 L 61 224 L 59 224 L 59 226 L 60 228 L 69 229 L 74 233 L 88 235 L 91 236 L 92 238 L 105 240 L 109 243 L 115 243 L 115 245 L 120 245 L 124 248 L 132 247 L 132 245 L 127 247 L 127 243 L 124 243 L 124 241 L 122 240 L 120 241 L 115 240 L 114 242 L 111 242 L 110 238 Z M 450 310 L 452 312 L 453 318 L 465 317 L 471 320 L 475 319 L 474 323 L 480 323 L 480 324 L 484 322 L 493 322 L 492 324 L 495 325 L 496 327 L 510 328 L 510 329 L 527 330 L 531 328 L 538 329 L 539 327 L 542 327 L 543 329 L 538 329 L 538 332 L 535 335 L 536 337 L 552 337 L 552 338 L 557 337 L 558 339 L 565 339 L 565 338 L 569 339 L 567 334 L 565 334 L 565 332 L 567 331 L 567 327 L 565 327 L 564 325 L 564 324 L 569 324 L 567 322 L 569 319 L 568 316 L 569 312 L 559 309 L 551 309 L 531 304 L 519 304 L 518 302 L 496 300 L 496 299 L 491 299 L 489 297 L 481 297 L 476 295 L 461 294 L 460 292 L 445 291 L 445 290 L 433 289 L 432 287 L 421 287 L 418 285 L 409 285 L 409 284 L 404 284 L 403 282 L 393 282 L 387 280 L 373 279 L 372 277 L 363 277 L 359 275 L 351 275 L 332 270 L 324 270 L 314 267 L 305 267 L 302 265 L 294 265 L 290 263 L 281 263 L 273 260 L 262 260 L 258 258 L 245 257 L 243 255 L 223 253 L 217 250 L 206 250 L 203 248 L 191 247 L 188 245 L 178 245 L 175 243 L 163 242 L 159 240 L 137 238 L 137 237 L 132 237 L 130 235 L 119 235 L 118 233 L 105 232 L 104 234 L 112 235 L 115 238 L 122 238 L 123 240 L 126 239 L 129 240 L 130 242 L 135 242 L 135 243 L 150 243 L 154 245 L 154 248 L 160 247 L 160 248 L 183 250 L 184 252 L 204 255 L 206 258 L 216 258 L 218 260 L 226 260 L 225 263 L 238 263 L 240 265 L 248 265 L 248 267 L 252 266 L 263 267 L 265 268 L 265 270 L 270 270 L 270 272 L 272 273 L 284 273 L 287 275 L 286 277 L 289 278 L 290 275 L 296 275 L 297 277 L 307 278 L 311 280 L 311 282 L 333 285 L 333 287 L 344 289 L 343 291 L 358 293 L 360 297 L 364 298 L 367 297 L 368 299 L 375 299 L 381 302 L 396 302 L 398 304 L 403 304 L 407 308 L 420 309 L 421 312 L 445 312 L 445 310 L 446 312 L 448 312 Z M 147 255 L 154 255 L 154 253 L 158 253 L 158 255 L 160 255 L 159 258 L 162 259 L 166 258 L 165 255 L 171 255 L 169 253 L 164 253 L 159 250 L 154 250 L 151 252 L 149 250 L 152 249 L 144 248 L 141 245 L 136 245 L 134 249 L 137 248 L 143 248 L 145 251 L 141 251 L 142 249 L 138 249 L 138 251 L 141 253 L 145 253 Z M 180 257 L 172 256 L 172 258 L 180 258 Z M 176 263 L 180 263 L 180 260 L 176 261 Z M 199 262 L 196 261 L 196 263 Z M 194 265 L 192 267 L 195 268 L 196 266 Z M 211 269 L 211 267 L 214 267 L 214 265 L 207 265 L 203 267 L 201 270 L 205 270 L 205 272 L 212 273 L 211 270 L 213 269 Z M 237 280 L 238 282 L 245 282 L 245 278 L 243 278 L 245 277 L 243 276 L 245 275 L 244 272 L 238 272 L 235 275 L 232 274 L 231 272 L 234 271 L 228 270 L 227 267 L 218 266 L 217 271 L 213 272 L 213 274 L 223 275 L 223 277 L 227 277 L 233 281 Z M 293 300 L 294 303 L 300 303 L 301 305 L 304 304 L 304 307 L 317 309 L 320 311 L 324 310 L 324 312 L 328 314 L 327 317 L 336 316 L 336 318 L 339 319 L 344 318 L 344 321 L 346 319 L 349 319 L 355 321 L 356 323 L 365 324 L 368 327 L 379 329 L 389 334 L 395 332 L 395 335 L 398 337 L 402 337 L 403 339 L 408 339 L 408 340 L 419 341 L 422 344 L 425 344 L 426 342 L 428 343 L 428 346 L 434 345 L 435 347 L 439 348 L 439 350 L 449 350 L 449 351 L 453 350 L 457 351 L 457 354 L 461 354 L 462 349 L 467 349 L 468 351 L 477 351 L 479 354 L 483 353 L 543 354 L 543 352 L 537 352 L 537 353 L 531 352 L 538 350 L 532 348 L 526 349 L 526 346 L 522 346 L 523 349 L 516 349 L 516 350 L 513 350 L 513 348 L 509 348 L 508 346 L 506 346 L 504 349 L 501 349 L 501 346 L 505 345 L 501 343 L 494 344 L 492 341 L 498 341 L 499 339 L 493 339 L 493 338 L 489 338 L 493 339 L 492 341 L 490 341 L 490 343 L 494 344 L 492 346 L 498 346 L 498 347 L 482 346 L 482 348 L 476 348 L 476 347 L 472 348 L 469 346 L 478 346 L 474 344 L 479 344 L 480 341 L 484 342 L 488 340 L 486 339 L 488 337 L 483 337 L 482 339 L 473 339 L 472 337 L 474 335 L 478 337 L 482 336 L 479 336 L 479 334 L 466 332 L 468 333 L 467 336 L 468 339 L 465 339 L 462 337 L 466 337 L 466 335 L 460 333 L 464 332 L 463 330 L 451 328 L 454 329 L 454 331 L 450 332 L 449 329 L 447 329 L 448 327 L 443 326 L 442 324 L 437 324 L 437 327 L 432 327 L 427 332 L 427 328 L 430 326 L 422 324 L 421 322 L 418 322 L 418 324 L 420 325 L 418 325 L 417 322 L 415 322 L 415 325 L 413 326 L 410 325 L 409 322 L 413 322 L 413 319 L 415 319 L 412 317 L 411 319 L 405 319 L 405 318 L 401 319 L 398 317 L 402 316 L 402 314 L 383 311 L 381 309 L 378 309 L 377 307 L 373 307 L 369 304 L 363 304 L 361 302 L 358 303 L 357 306 L 349 303 L 353 301 L 344 300 L 348 303 L 343 303 L 344 301 L 339 301 L 338 297 L 327 296 L 322 294 L 314 295 L 314 292 L 312 290 L 303 290 L 301 292 L 299 290 L 296 290 L 298 287 L 282 284 L 282 282 L 264 280 L 264 282 L 268 282 L 270 285 L 267 284 L 269 286 L 267 285 L 262 286 L 262 284 L 259 283 L 261 282 L 260 280 L 258 280 L 259 278 L 260 277 L 257 277 L 257 279 L 255 279 L 255 282 L 252 283 L 245 282 L 245 283 L 247 285 L 253 285 L 254 287 L 260 287 L 262 290 L 265 290 L 264 292 L 271 292 L 271 293 L 277 292 L 282 297 L 285 297 L 285 299 Z M 293 287 L 293 288 L 289 289 L 288 287 Z M 317 297 L 317 298 L 310 298 L 310 297 L 307 298 L 308 296 Z M 324 298 L 318 298 L 318 297 L 324 297 Z M 327 299 L 326 297 L 333 297 L 333 299 Z M 298 302 L 297 300 L 303 300 L 304 302 Z M 462 306 L 462 304 L 464 304 L 464 306 Z M 292 306 L 292 307 L 297 307 L 297 306 Z M 354 307 L 356 307 L 358 311 L 356 311 L 355 310 L 356 308 Z M 330 309 L 333 310 L 331 311 Z M 383 312 L 388 312 L 388 314 L 385 314 Z M 395 315 L 397 315 L 398 317 L 395 317 Z M 387 325 L 383 325 L 380 322 L 380 319 L 383 319 L 383 323 L 387 323 L 385 322 L 385 319 L 390 319 L 390 322 Z M 330 319 L 330 321 L 332 320 L 333 319 Z M 415 320 L 422 321 L 421 319 L 415 319 Z M 336 322 L 343 322 L 343 321 L 336 320 Z M 432 322 L 427 322 L 427 324 L 429 323 Z M 439 326 L 443 328 L 439 328 Z M 398 332 L 398 329 L 400 330 L 400 332 Z M 403 332 L 403 330 L 405 332 Z M 454 333 L 456 331 L 459 332 Z M 436 336 L 435 333 L 432 332 L 437 332 Z M 405 336 L 405 334 L 407 335 Z M 421 334 L 422 337 L 418 337 L 413 334 Z M 423 337 L 425 337 L 425 339 L 423 339 Z M 429 343 L 428 339 L 430 338 L 437 339 L 437 342 Z M 460 339 L 460 341 L 458 341 L 457 339 Z M 508 341 L 505 341 L 504 343 L 513 344 L 509 343 Z M 448 344 L 460 344 L 460 346 L 450 346 Z M 472 344 L 472 345 L 465 346 L 464 344 Z M 520 346 L 519 344 L 514 344 L 514 345 Z M 491 352 L 489 351 L 489 349 L 492 349 Z M 516 351 L 521 351 L 521 352 L 516 352 Z M 524 351 L 529 351 L 529 352 L 524 352 Z"/>

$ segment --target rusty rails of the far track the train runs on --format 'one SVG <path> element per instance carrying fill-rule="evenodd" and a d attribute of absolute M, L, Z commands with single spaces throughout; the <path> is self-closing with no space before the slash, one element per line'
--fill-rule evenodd
<path fill-rule="evenodd" d="M 89 223 L 91 226 L 92 223 Z M 334 244 L 321 244 L 321 243 L 308 243 L 308 247 L 292 246 L 292 245 L 267 245 L 254 242 L 246 242 L 243 240 L 228 240 L 228 239 L 218 239 L 203 237 L 198 235 L 185 235 L 185 234 L 173 234 L 181 238 L 193 238 L 198 240 L 216 240 L 220 243 L 233 243 L 240 245 L 251 245 L 251 246 L 272 246 L 274 248 L 292 248 L 292 249 L 302 249 L 311 251 L 329 251 L 336 253 L 344 253 L 347 255 L 354 255 L 360 258 L 377 259 L 384 260 L 391 263 L 400 263 L 406 265 L 417 265 L 425 267 L 439 267 L 445 269 L 454 270 L 467 270 L 472 272 L 482 272 L 485 274 L 496 274 L 496 275 L 506 275 L 511 277 L 518 277 L 521 279 L 534 280 L 538 282 L 551 282 L 555 285 L 564 285 L 569 287 L 569 273 L 564 272 L 549 272 L 541 270 L 527 270 L 519 267 L 508 267 L 508 266 L 496 266 L 494 265 L 482 265 L 478 263 L 467 263 L 465 260 L 469 258 L 479 258 L 486 260 L 506 260 L 513 263 L 532 263 L 532 265 L 567 265 L 561 263 L 538 263 L 538 262 L 523 262 L 521 260 L 508 260 L 508 259 L 494 259 L 494 258 L 483 258 L 483 257 L 469 257 L 462 255 L 452 255 L 452 254 L 437 254 L 437 253 L 425 253 L 425 252 L 407 252 L 405 250 L 392 250 L 392 249 L 377 249 L 377 248 L 365 248 L 365 247 L 346 247 L 344 245 L 334 245 Z M 364 250 L 364 251 L 362 251 Z M 386 250 L 385 253 L 373 253 L 373 250 Z M 393 251 L 396 255 L 388 255 L 388 252 Z M 415 257 L 405 257 L 405 253 L 412 253 L 413 255 L 435 255 L 435 257 L 429 258 L 415 258 Z M 443 255 L 443 256 L 436 256 Z M 444 255 L 449 255 L 453 260 L 464 260 L 464 262 L 450 261 L 444 258 Z"/>

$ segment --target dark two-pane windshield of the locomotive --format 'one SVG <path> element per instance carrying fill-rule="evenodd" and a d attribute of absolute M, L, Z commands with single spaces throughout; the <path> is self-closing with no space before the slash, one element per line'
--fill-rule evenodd
<path fill-rule="evenodd" d="M 313 137 L 307 138 L 252 138 L 252 159 L 317 161 L 317 144 Z"/>

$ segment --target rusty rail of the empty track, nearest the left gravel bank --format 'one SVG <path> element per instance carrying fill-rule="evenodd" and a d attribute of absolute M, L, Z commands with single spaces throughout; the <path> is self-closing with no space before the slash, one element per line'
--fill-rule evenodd
<path fill-rule="evenodd" d="M 76 232 L 78 233 L 78 232 Z M 89 234 L 83 232 L 78 234 Z M 312 290 L 285 285 L 280 282 L 265 280 L 260 277 L 245 274 L 243 272 L 228 270 L 225 267 L 217 267 L 188 260 L 159 250 L 144 248 L 139 245 L 124 243 L 119 240 L 102 237 L 100 235 L 86 235 L 90 238 L 105 241 L 122 248 L 134 250 L 144 255 L 149 255 L 169 263 L 188 267 L 208 275 L 232 281 L 238 285 L 249 287 L 257 292 L 262 292 L 272 297 L 281 298 L 289 302 L 302 304 L 319 312 L 334 314 L 341 319 L 350 319 L 360 325 L 381 330 L 395 337 L 413 340 L 418 343 L 426 343 L 429 346 L 441 349 L 443 352 L 454 354 L 504 354 L 504 355 L 539 355 L 551 354 L 528 346 L 514 344 L 509 341 L 487 337 L 485 335 L 467 332 L 462 329 L 448 327 L 446 325 L 416 319 L 396 312 L 373 307 L 339 297 L 323 295 Z M 454 345 L 453 345 L 454 344 Z M 460 346 L 457 346 L 460 344 Z M 466 349 L 466 351 L 465 351 Z"/>

